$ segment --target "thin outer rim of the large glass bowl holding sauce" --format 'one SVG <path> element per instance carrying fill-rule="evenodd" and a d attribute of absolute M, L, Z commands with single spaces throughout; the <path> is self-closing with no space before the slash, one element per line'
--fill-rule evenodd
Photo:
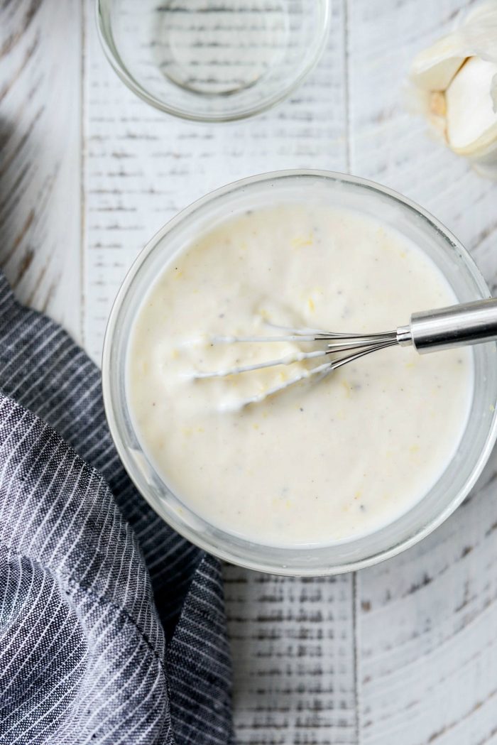
<path fill-rule="evenodd" d="M 408 209 L 416 212 L 417 215 L 421 215 L 421 217 L 424 218 L 425 221 L 431 225 L 431 227 L 436 229 L 436 231 L 440 235 L 442 235 L 443 238 L 449 242 L 449 244 L 452 244 L 452 246 L 458 250 L 458 253 L 460 253 L 461 258 L 465 262 L 469 273 L 471 273 L 472 275 L 472 279 L 478 286 L 478 290 L 481 291 L 482 297 L 491 297 L 487 282 L 481 275 L 477 264 L 475 264 L 475 260 L 472 258 L 466 248 L 463 247 L 463 244 L 460 243 L 458 238 L 456 238 L 455 235 L 453 235 L 452 232 L 450 232 L 449 229 L 447 229 L 443 225 L 443 223 L 438 221 L 437 218 L 434 218 L 434 216 L 431 215 L 430 212 L 422 208 L 413 200 L 410 200 L 408 197 L 404 197 L 398 191 L 390 189 L 386 186 L 382 186 L 381 184 L 376 183 L 373 180 L 367 180 L 362 177 L 351 176 L 349 174 L 341 174 L 338 171 L 324 171 L 317 169 L 269 171 L 268 173 L 256 174 L 251 177 L 235 180 L 225 186 L 221 186 L 220 188 L 215 189 L 214 191 L 210 191 L 208 194 L 200 197 L 200 199 L 195 200 L 189 206 L 178 212 L 177 215 L 174 216 L 174 218 L 171 218 L 170 221 L 165 223 L 165 225 L 162 226 L 162 228 L 159 229 L 159 231 L 157 231 L 155 235 L 153 235 L 151 240 L 149 240 L 148 243 L 145 244 L 145 247 L 140 251 L 139 255 L 133 261 L 133 264 L 124 277 L 118 293 L 115 296 L 104 335 L 104 347 L 102 352 L 102 391 L 107 424 L 109 426 L 110 434 L 113 438 L 115 448 L 118 451 L 118 455 L 124 465 L 124 468 L 127 471 L 128 476 L 130 477 L 131 481 L 133 481 L 133 484 L 136 486 L 136 489 L 139 491 L 140 495 L 142 495 L 145 501 L 148 502 L 148 504 L 155 512 L 157 512 L 157 510 L 153 504 L 153 501 L 148 498 L 148 495 L 145 495 L 145 493 L 142 492 L 141 487 L 138 485 L 133 476 L 133 472 L 136 470 L 136 466 L 133 466 L 133 461 L 127 453 L 127 447 L 121 438 L 121 433 L 115 420 L 115 414 L 112 406 L 112 382 L 110 375 L 111 346 L 113 343 L 113 335 L 115 332 L 115 327 L 118 323 L 123 302 L 126 299 L 127 292 L 133 284 L 136 273 L 138 273 L 143 262 L 148 258 L 149 254 L 152 253 L 153 250 L 155 250 L 156 247 L 160 244 L 162 238 L 164 238 L 165 235 L 167 235 L 168 232 L 174 229 L 178 224 L 183 223 L 183 221 L 187 220 L 190 215 L 197 212 L 198 209 L 209 204 L 210 202 L 218 200 L 218 198 L 220 197 L 224 197 L 224 195 L 226 194 L 232 193 L 232 191 L 243 189 L 244 186 L 250 186 L 255 183 L 270 182 L 271 180 L 285 179 L 288 177 L 317 177 L 324 178 L 326 180 L 332 180 L 338 183 L 361 186 L 363 188 L 369 189 L 370 191 L 390 197 L 391 200 L 399 203 L 401 207 L 407 207 Z M 255 571 L 262 571 L 265 573 L 279 574 L 282 576 L 291 577 L 320 577 L 330 576 L 334 574 L 344 574 L 348 571 L 357 571 L 358 569 L 374 565 L 376 563 L 384 561 L 384 559 L 394 557 L 397 554 L 402 553 L 402 551 L 406 551 L 408 548 L 411 548 L 412 546 L 420 542 L 420 540 L 428 536 L 431 532 L 433 532 L 433 530 L 439 527 L 440 524 L 445 522 L 445 520 L 461 504 L 464 498 L 466 498 L 470 489 L 472 489 L 472 486 L 474 486 L 475 482 L 478 479 L 478 476 L 481 474 L 481 471 L 484 469 L 484 466 L 487 463 L 488 458 L 490 457 L 490 453 L 493 449 L 496 439 L 497 407 L 496 410 L 494 410 L 493 412 L 492 423 L 485 440 L 484 448 L 482 448 L 480 454 L 478 455 L 478 458 L 475 460 L 475 463 L 473 464 L 472 470 L 466 478 L 466 481 L 464 481 L 463 485 L 460 486 L 458 492 L 455 492 L 455 495 L 453 495 L 452 499 L 448 502 L 448 504 L 446 504 L 446 507 L 441 510 L 436 517 L 431 519 L 431 521 L 427 522 L 422 527 L 419 527 L 411 536 L 402 539 L 400 542 L 396 542 L 390 548 L 384 548 L 382 550 L 376 551 L 375 553 L 371 554 L 368 557 L 364 557 L 363 559 L 346 561 L 344 562 L 344 564 L 341 565 L 326 565 L 323 566 L 323 568 L 309 568 L 306 565 L 300 565 L 300 568 L 297 571 L 294 566 L 286 567 L 283 564 L 277 566 L 270 565 L 268 564 L 268 562 L 265 562 L 264 558 L 262 558 L 261 560 L 241 561 L 239 557 L 233 556 L 229 548 L 225 548 L 224 545 L 213 545 L 212 542 L 204 539 L 204 536 L 202 534 L 197 533 L 189 525 L 185 524 L 182 519 L 179 518 L 177 513 L 174 512 L 174 510 L 170 510 L 168 509 L 168 507 L 166 507 L 165 511 L 167 511 L 167 519 L 165 519 L 165 517 L 161 513 L 157 512 L 157 514 L 159 514 L 159 517 L 167 522 L 173 530 L 175 530 L 177 533 L 189 540 L 194 545 L 197 545 L 198 548 L 201 548 L 203 551 L 207 551 L 209 554 L 213 554 L 214 556 L 218 557 L 218 559 L 223 559 L 224 561 L 227 561 L 231 564 L 243 566 L 244 568 L 253 569 Z M 205 519 L 204 522 L 209 524 L 209 522 Z M 226 530 L 223 530 L 221 528 L 217 528 L 217 530 L 219 531 L 219 533 L 222 533 L 225 536 L 230 535 L 229 533 L 227 533 Z M 250 543 L 250 541 L 247 540 L 245 540 L 245 542 Z M 265 547 L 263 545 L 260 545 L 260 548 L 261 553 L 263 553 Z M 304 550 L 305 548 L 301 547 L 290 547 L 284 549 L 282 548 L 282 551 L 294 552 L 295 554 L 297 554 L 299 551 L 303 552 Z"/>

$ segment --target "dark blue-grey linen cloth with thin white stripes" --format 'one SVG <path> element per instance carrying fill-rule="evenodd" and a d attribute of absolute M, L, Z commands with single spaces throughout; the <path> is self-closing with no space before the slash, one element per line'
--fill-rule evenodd
<path fill-rule="evenodd" d="M 136 492 L 97 367 L 0 273 L 0 743 L 232 742 L 218 562 Z"/>

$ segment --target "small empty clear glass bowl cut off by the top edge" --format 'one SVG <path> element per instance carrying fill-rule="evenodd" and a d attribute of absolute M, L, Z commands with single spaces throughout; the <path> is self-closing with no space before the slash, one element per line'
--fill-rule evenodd
<path fill-rule="evenodd" d="M 286 98 L 319 60 L 329 0 L 97 0 L 101 42 L 148 104 L 232 121 Z"/>

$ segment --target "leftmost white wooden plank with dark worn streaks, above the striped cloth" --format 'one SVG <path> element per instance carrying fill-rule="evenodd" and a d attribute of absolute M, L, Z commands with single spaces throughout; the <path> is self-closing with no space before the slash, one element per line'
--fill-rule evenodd
<path fill-rule="evenodd" d="M 80 1 L 0 9 L 0 266 L 80 338 Z"/>

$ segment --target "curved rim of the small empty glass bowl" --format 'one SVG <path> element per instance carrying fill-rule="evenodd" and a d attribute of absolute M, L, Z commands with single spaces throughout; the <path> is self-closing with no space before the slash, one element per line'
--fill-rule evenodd
<path fill-rule="evenodd" d="M 145 101 L 146 104 L 149 104 L 155 109 L 166 114 L 176 116 L 180 119 L 185 119 L 186 121 L 198 121 L 204 123 L 223 123 L 229 121 L 240 121 L 241 119 L 248 119 L 253 116 L 262 114 L 272 109 L 277 104 L 280 104 L 282 101 L 285 101 L 286 98 L 288 98 L 297 90 L 297 88 L 299 88 L 299 86 L 303 83 L 309 73 L 311 73 L 314 67 L 317 66 L 317 63 L 319 62 L 326 46 L 332 19 L 331 0 L 320 0 L 323 3 L 324 22 L 319 37 L 319 43 L 316 44 L 314 54 L 310 58 L 306 67 L 300 71 L 300 74 L 297 75 L 297 77 L 292 78 L 292 82 L 285 86 L 280 92 L 275 93 L 270 98 L 262 101 L 262 103 L 258 104 L 257 106 L 247 107 L 238 111 L 233 110 L 232 113 L 200 114 L 189 112 L 186 109 L 180 109 L 179 107 L 170 106 L 161 98 L 157 98 L 147 89 L 145 89 L 142 85 L 140 85 L 138 80 L 136 80 L 136 78 L 131 75 L 130 70 L 127 68 L 121 58 L 121 54 L 119 54 L 118 48 L 115 45 L 113 38 L 109 37 L 105 28 L 102 8 L 104 5 L 110 4 L 111 1 L 112 0 L 95 0 L 95 16 L 98 37 L 100 39 L 101 46 L 104 49 L 105 56 L 107 57 L 107 60 L 109 61 L 110 66 L 113 68 L 114 72 L 118 75 L 118 77 L 121 78 L 122 82 L 125 83 L 125 85 L 131 91 L 133 91 L 135 95 L 141 98 L 142 101 Z"/>

